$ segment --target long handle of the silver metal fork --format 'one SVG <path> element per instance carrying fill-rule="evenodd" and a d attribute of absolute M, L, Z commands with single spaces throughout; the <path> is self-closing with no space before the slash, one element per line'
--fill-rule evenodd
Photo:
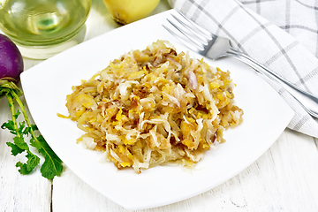
<path fill-rule="evenodd" d="M 276 74 L 276 72 L 269 70 L 269 68 L 265 67 L 263 64 L 260 64 L 253 58 L 248 57 L 242 52 L 239 52 L 235 49 L 230 49 L 227 54 L 229 54 L 231 57 L 238 58 L 242 62 L 254 68 L 255 71 L 260 72 L 261 74 L 269 77 L 269 79 L 275 80 L 281 84 L 311 116 L 318 117 L 318 96 L 312 95 L 307 91 L 296 87 L 294 84 L 292 84 L 292 82 L 282 78 Z"/>

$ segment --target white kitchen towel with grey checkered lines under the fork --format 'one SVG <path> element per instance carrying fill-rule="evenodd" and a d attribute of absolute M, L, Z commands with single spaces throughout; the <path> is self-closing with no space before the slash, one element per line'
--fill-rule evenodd
<path fill-rule="evenodd" d="M 318 1 L 316 0 L 169 0 L 201 27 L 228 37 L 261 64 L 318 95 Z M 295 110 L 292 130 L 318 138 L 311 117 L 276 82 L 269 83 Z"/>

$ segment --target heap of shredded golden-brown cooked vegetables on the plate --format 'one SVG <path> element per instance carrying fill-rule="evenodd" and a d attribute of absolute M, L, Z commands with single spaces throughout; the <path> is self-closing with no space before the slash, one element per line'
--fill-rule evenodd
<path fill-rule="evenodd" d="M 79 141 L 118 169 L 193 167 L 242 121 L 230 72 L 169 46 L 132 50 L 67 95 L 72 120 L 86 132 Z"/>

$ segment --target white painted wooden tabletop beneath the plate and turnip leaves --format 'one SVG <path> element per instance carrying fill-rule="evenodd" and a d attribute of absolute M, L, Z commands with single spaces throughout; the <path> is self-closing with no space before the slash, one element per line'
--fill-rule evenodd
<path fill-rule="evenodd" d="M 153 14 L 168 9 L 162 0 Z M 116 27 L 102 0 L 93 0 L 86 40 Z M 25 70 L 41 62 L 25 59 Z M 0 125 L 11 119 L 7 104 L 0 99 Z M 52 181 L 42 178 L 39 170 L 20 175 L 15 163 L 22 155 L 13 157 L 5 144 L 11 139 L 8 131 L 0 130 L 0 212 L 127 211 L 67 167 Z M 286 129 L 264 155 L 221 186 L 186 201 L 142 211 L 318 211 L 318 140 Z"/>

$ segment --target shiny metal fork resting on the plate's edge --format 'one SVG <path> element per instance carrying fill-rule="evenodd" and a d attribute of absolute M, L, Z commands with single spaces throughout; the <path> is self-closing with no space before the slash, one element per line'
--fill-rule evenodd
<path fill-rule="evenodd" d="M 177 11 L 177 10 L 176 10 Z M 175 33 L 170 27 L 163 27 L 174 35 L 180 42 L 183 42 L 186 47 L 210 59 L 218 59 L 220 57 L 235 57 L 240 61 L 248 64 L 255 71 L 269 77 L 280 83 L 298 102 L 299 104 L 313 117 L 318 117 L 318 96 L 312 95 L 307 91 L 295 86 L 292 82 L 282 78 L 276 72 L 272 72 L 263 64 L 248 57 L 246 54 L 233 49 L 231 42 L 227 38 L 219 37 L 200 27 L 193 20 L 188 19 L 184 14 L 178 11 L 178 17 L 171 13 L 171 19 L 167 19 L 173 28 L 178 29 Z"/>

